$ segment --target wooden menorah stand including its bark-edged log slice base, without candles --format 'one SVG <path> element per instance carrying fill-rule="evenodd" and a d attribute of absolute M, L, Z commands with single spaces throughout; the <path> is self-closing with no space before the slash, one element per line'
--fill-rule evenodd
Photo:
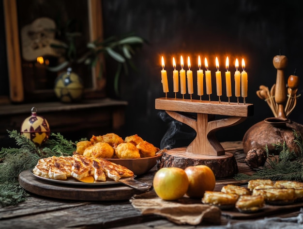
<path fill-rule="evenodd" d="M 224 127 L 234 126 L 253 115 L 253 104 L 200 101 L 176 98 L 156 98 L 155 109 L 165 110 L 172 118 L 180 121 L 196 132 L 196 138 L 188 147 L 167 150 L 158 168 L 204 164 L 209 166 L 216 178 L 232 177 L 238 173 L 237 162 L 232 153 L 225 152 L 215 137 L 215 132 Z M 192 113 L 197 114 L 193 118 Z M 227 118 L 215 119 L 215 115 Z"/>

